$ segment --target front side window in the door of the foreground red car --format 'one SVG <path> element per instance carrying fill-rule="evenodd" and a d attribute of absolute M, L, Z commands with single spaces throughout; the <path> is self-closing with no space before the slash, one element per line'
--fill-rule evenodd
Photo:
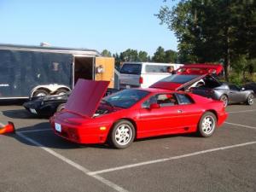
<path fill-rule="evenodd" d="M 171 93 L 158 94 L 151 96 L 146 102 L 143 102 L 143 108 L 149 108 L 150 104 L 157 103 L 160 107 L 177 105 L 177 98 Z"/>

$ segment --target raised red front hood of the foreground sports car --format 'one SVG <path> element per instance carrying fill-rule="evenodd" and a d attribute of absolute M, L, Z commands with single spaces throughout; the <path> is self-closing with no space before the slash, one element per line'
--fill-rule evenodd
<path fill-rule="evenodd" d="M 108 84 L 109 81 L 79 79 L 67 99 L 67 111 L 92 117 L 108 88 Z"/>

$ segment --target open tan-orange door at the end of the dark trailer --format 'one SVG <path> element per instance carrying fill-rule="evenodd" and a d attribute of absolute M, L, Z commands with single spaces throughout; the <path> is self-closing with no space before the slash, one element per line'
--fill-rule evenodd
<path fill-rule="evenodd" d="M 108 88 L 113 88 L 114 58 L 96 57 L 95 80 L 110 81 Z"/>

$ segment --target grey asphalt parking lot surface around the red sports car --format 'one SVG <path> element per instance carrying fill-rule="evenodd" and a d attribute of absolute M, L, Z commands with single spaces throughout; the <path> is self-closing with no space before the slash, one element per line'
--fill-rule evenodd
<path fill-rule="evenodd" d="M 256 102 L 256 101 L 255 101 Z M 48 119 L 1 105 L 0 191 L 256 191 L 256 104 L 230 105 L 212 137 L 139 140 L 123 150 L 56 137 Z"/>

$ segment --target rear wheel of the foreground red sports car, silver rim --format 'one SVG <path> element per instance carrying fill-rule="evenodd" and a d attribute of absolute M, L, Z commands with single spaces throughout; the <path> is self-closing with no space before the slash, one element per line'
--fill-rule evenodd
<path fill-rule="evenodd" d="M 198 133 L 201 137 L 211 137 L 216 129 L 217 119 L 214 113 L 207 112 L 201 116 Z"/>

